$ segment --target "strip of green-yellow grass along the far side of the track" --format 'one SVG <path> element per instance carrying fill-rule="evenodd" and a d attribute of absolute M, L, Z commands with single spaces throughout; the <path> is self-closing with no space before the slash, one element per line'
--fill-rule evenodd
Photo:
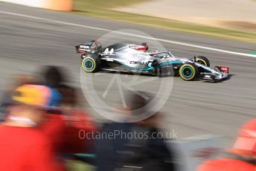
<path fill-rule="evenodd" d="M 147 0 L 74 0 L 74 13 L 103 19 L 112 19 L 121 22 L 135 23 L 139 25 L 148 25 L 156 28 L 177 30 L 185 33 L 196 33 L 204 36 L 213 36 L 224 39 L 233 39 L 241 42 L 256 43 L 256 33 L 252 32 L 214 28 L 205 25 L 195 25 L 171 19 L 161 19 L 139 14 L 123 13 L 110 9 L 141 1 Z"/>

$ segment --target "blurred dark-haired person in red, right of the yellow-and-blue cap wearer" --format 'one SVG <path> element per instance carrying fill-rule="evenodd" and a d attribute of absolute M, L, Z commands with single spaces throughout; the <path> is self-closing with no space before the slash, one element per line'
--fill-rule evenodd
<path fill-rule="evenodd" d="M 63 95 L 62 109 L 66 129 L 62 152 L 69 153 L 93 153 L 94 141 L 80 138 L 80 132 L 96 132 L 94 120 L 85 109 L 80 107 L 77 89 L 70 86 L 61 86 L 60 93 Z"/>

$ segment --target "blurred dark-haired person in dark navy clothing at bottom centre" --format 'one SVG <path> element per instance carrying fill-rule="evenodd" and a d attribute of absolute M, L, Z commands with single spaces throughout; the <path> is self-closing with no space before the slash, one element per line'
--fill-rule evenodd
<path fill-rule="evenodd" d="M 147 97 L 150 94 L 140 92 Z M 134 114 L 132 110 L 144 108 L 147 100 L 138 94 L 132 94 L 129 100 L 129 109 L 126 114 Z M 147 110 L 147 109 L 145 109 Z M 153 138 L 159 133 L 159 113 L 136 123 L 106 123 L 101 133 L 122 132 L 115 138 L 97 140 L 97 170 L 98 171 L 122 171 L 122 170 L 146 170 L 167 171 L 175 170 L 173 157 L 165 138 Z M 124 138 L 125 135 L 137 132 L 147 135 L 143 138 Z M 109 134 L 110 135 L 110 134 Z"/>

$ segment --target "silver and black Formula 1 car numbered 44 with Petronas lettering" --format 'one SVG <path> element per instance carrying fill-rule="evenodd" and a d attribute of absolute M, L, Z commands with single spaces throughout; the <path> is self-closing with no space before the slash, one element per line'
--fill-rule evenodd
<path fill-rule="evenodd" d="M 183 80 L 223 80 L 228 67 L 210 68 L 206 57 L 175 57 L 170 51 L 150 51 L 147 43 L 132 45 L 115 43 L 102 48 L 99 42 L 89 41 L 76 46 L 86 72 L 120 71 L 156 76 L 179 75 Z"/>

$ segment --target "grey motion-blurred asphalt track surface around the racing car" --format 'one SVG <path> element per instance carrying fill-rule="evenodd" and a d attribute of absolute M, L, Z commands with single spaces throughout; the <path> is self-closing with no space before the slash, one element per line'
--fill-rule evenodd
<path fill-rule="evenodd" d="M 65 66 L 68 68 L 71 82 L 79 87 L 80 57 L 74 51 L 74 45 L 97 39 L 108 33 L 107 30 L 133 29 L 143 31 L 155 38 L 190 45 L 245 54 L 256 51 L 256 45 L 243 42 L 195 36 L 0 2 L 0 12 L 3 11 L 4 13 L 0 13 L 1 90 L 4 90 L 4 86 L 13 74 L 36 73 L 40 65 Z M 77 25 L 65 25 L 5 12 L 103 29 L 81 28 Z M 161 112 L 164 113 L 163 125 L 167 129 L 175 129 L 179 138 L 217 134 L 224 135 L 228 142 L 233 141 L 240 125 L 246 120 L 255 118 L 256 58 L 170 42 L 161 42 L 161 45 L 171 49 L 177 56 L 193 57 L 193 55 L 202 54 L 211 60 L 211 65 L 229 66 L 232 74 L 229 80 L 222 83 L 185 82 L 179 77 L 173 77 L 172 92 L 167 103 L 161 108 Z M 95 77 L 96 90 L 103 92 L 112 75 L 107 74 L 107 77 L 101 77 L 99 80 Z M 128 76 L 128 79 L 129 77 L 132 76 Z M 144 77 L 139 76 L 141 79 Z M 158 82 L 159 79 L 156 80 L 156 84 L 143 84 L 140 88 L 144 91 L 153 91 L 158 88 Z M 112 91 L 114 91 L 113 97 L 118 96 L 115 90 Z M 89 111 L 95 117 L 99 117 L 94 109 Z"/>

